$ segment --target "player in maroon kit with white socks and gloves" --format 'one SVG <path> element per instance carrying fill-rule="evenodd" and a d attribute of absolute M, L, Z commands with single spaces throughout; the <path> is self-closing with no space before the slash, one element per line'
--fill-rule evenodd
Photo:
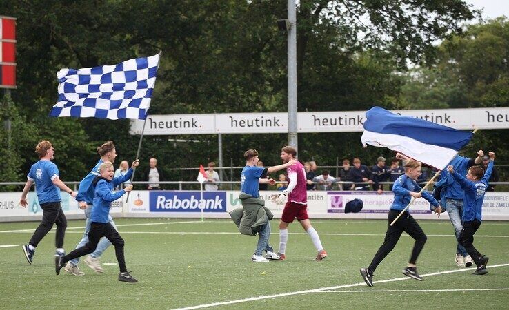
<path fill-rule="evenodd" d="M 286 146 L 281 149 L 281 159 L 283 163 L 295 161 L 297 157 L 297 149 L 295 147 Z M 327 257 L 327 252 L 321 246 L 320 236 L 318 236 L 315 228 L 311 226 L 308 216 L 308 193 L 306 192 L 306 169 L 296 161 L 295 165 L 286 168 L 288 172 L 288 187 L 283 192 L 275 195 L 273 199 L 278 205 L 283 205 L 288 196 L 288 201 L 283 209 L 283 215 L 279 220 L 279 252 L 277 255 L 281 260 L 286 259 L 286 242 L 288 242 L 288 225 L 295 218 L 301 223 L 304 231 L 308 233 L 317 249 L 317 257 L 315 260 L 320 261 Z"/>

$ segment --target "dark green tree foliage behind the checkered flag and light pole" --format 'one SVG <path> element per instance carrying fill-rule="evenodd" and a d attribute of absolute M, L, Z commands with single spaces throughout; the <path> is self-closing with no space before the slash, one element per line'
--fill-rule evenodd
<path fill-rule="evenodd" d="M 48 118 L 61 68 L 108 65 L 161 51 L 150 114 L 285 112 L 286 33 L 277 31 L 275 21 L 286 17 L 286 5 L 283 0 L 0 0 L 2 14 L 17 17 L 18 89 L 12 96 L 34 127 L 19 145 L 15 169 L 28 170 L 37 159 L 33 146 L 43 138 L 57 148 L 55 162 L 64 180 L 81 179 L 103 141 L 116 143 L 119 160 L 135 156 L 139 136 L 130 136 L 129 121 Z M 408 60 L 432 63 L 439 50 L 432 43 L 461 34 L 461 23 L 475 14 L 460 0 L 300 1 L 299 111 L 409 105 L 400 96 L 407 80 L 395 72 Z M 497 39 L 486 40 L 499 46 Z M 483 93 L 486 103 L 507 96 L 500 88 L 507 80 L 482 81 L 491 85 Z M 430 94 L 437 102 L 443 96 Z M 155 156 L 170 179 L 194 180 L 194 172 L 170 168 L 217 161 L 217 136 L 169 138 L 201 142 L 146 136 L 140 171 Z M 279 147 L 287 140 L 286 134 L 224 135 L 223 158 L 241 165 L 242 152 L 256 147 L 267 164 L 279 163 Z M 337 156 L 366 156 L 368 162 L 379 155 L 368 154 L 358 141 L 359 134 L 352 133 L 301 134 L 299 149 L 302 159 L 318 158 L 321 164 L 334 164 Z"/>

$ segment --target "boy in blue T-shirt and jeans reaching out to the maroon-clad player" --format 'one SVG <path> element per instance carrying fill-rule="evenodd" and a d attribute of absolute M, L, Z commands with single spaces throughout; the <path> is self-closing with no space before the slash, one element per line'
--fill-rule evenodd
<path fill-rule="evenodd" d="M 266 178 L 267 174 L 285 169 L 297 162 L 296 160 L 292 160 L 283 165 L 277 165 L 274 167 L 258 167 L 258 152 L 255 149 L 248 149 L 244 153 L 244 158 L 246 158 L 246 167 L 242 169 L 241 173 L 241 192 L 246 193 L 253 198 L 259 198 L 260 183 L 275 185 L 275 180 L 272 180 L 272 178 Z M 274 253 L 274 249 L 268 243 L 270 238 L 270 223 L 268 220 L 267 223 L 260 227 L 258 234 L 259 238 L 257 249 L 255 250 L 255 254 L 251 257 L 251 260 L 253 262 L 268 262 L 267 258 L 271 260 L 279 260 L 279 255 Z M 263 251 L 267 252 L 266 257 L 261 256 Z"/>

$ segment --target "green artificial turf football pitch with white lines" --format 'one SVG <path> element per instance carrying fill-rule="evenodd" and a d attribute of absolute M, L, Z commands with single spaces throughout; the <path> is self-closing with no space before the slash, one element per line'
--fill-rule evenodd
<path fill-rule="evenodd" d="M 488 274 L 454 262 L 455 238 L 448 221 L 421 220 L 428 242 L 417 261 L 423 282 L 401 274 L 413 240 L 403 234 L 375 273 L 375 286 L 359 274 L 383 241 L 384 220 L 312 220 L 328 257 L 315 249 L 298 223 L 289 227 L 287 259 L 251 262 L 257 237 L 243 236 L 230 220 L 117 219 L 126 240 L 126 263 L 138 283 L 117 281 L 114 249 L 104 273 L 80 263 L 85 276 L 54 273 L 54 231 L 28 265 L 21 245 L 39 223 L 0 224 L 0 308 L 176 309 L 361 309 L 491 308 L 509 306 L 509 223 L 483 222 L 475 245 L 490 257 Z M 70 220 L 66 251 L 83 234 L 84 220 Z M 277 251 L 277 221 L 270 243 Z M 10 247 L 12 245 L 12 247 Z"/>

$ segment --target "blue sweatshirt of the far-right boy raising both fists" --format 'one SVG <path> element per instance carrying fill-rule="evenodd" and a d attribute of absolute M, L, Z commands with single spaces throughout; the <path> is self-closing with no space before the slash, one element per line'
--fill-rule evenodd
<path fill-rule="evenodd" d="M 486 172 L 481 180 L 472 182 L 457 172 L 453 172 L 452 176 L 457 180 L 461 188 L 465 191 L 463 196 L 463 222 L 472 220 L 482 220 L 482 207 L 488 180 L 490 179 L 493 169 L 493 161 L 490 161 Z"/>

